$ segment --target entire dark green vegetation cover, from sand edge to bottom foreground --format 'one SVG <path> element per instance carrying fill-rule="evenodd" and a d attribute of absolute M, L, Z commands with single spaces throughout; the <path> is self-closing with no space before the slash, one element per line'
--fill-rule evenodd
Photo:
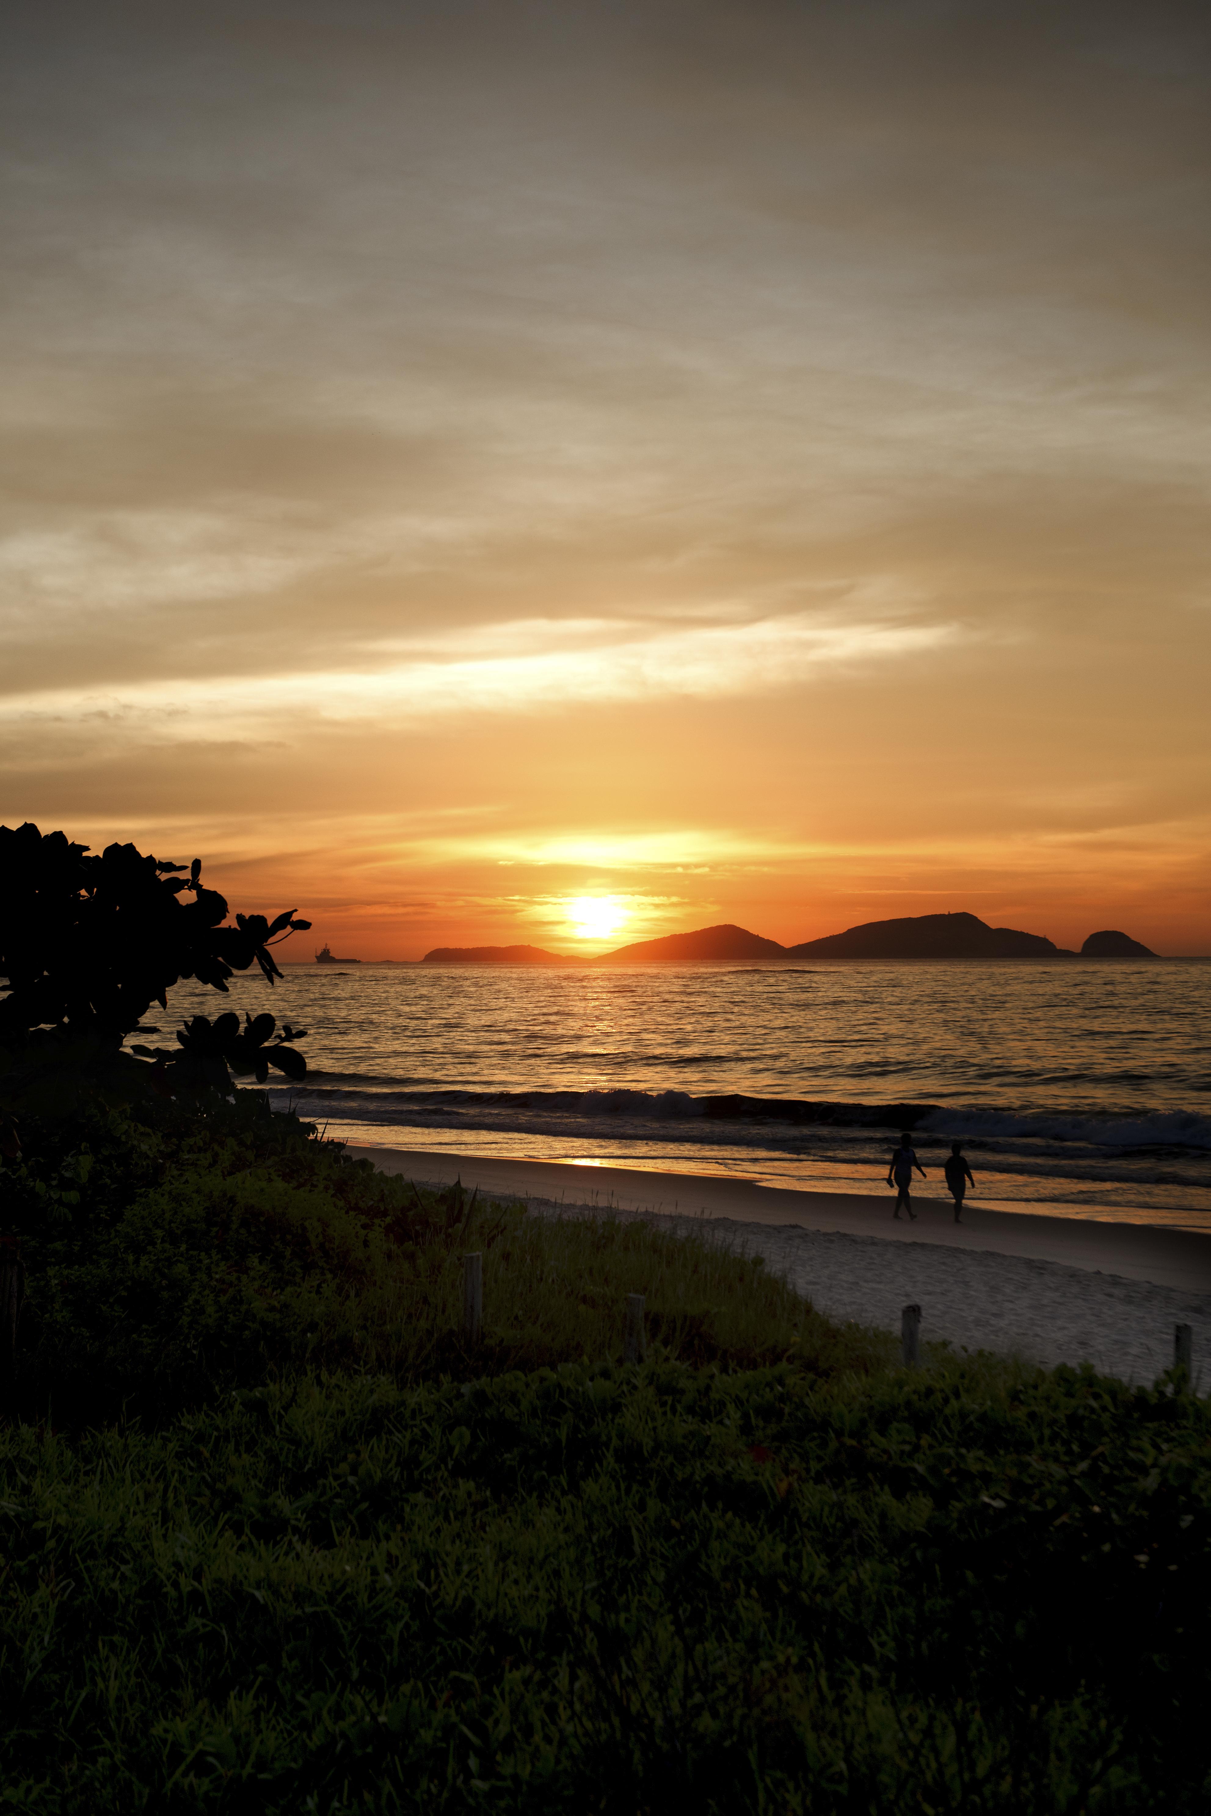
<path fill-rule="evenodd" d="M 1206 1402 L 906 1371 L 695 1235 L 467 1226 L 254 1104 L 203 1124 L 7 1179 L 0 1807 L 1207 1807 Z"/>

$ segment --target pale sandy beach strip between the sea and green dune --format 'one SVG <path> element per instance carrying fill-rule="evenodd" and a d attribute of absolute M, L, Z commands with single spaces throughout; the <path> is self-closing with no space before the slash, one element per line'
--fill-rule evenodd
<path fill-rule="evenodd" d="M 1055 1366 L 1091 1362 L 1153 1382 L 1173 1362 L 1173 1326 L 1189 1324 L 1195 1375 L 1211 1358 L 1211 1237 L 1146 1224 L 986 1211 L 962 1224 L 950 1202 L 913 1197 L 917 1222 L 886 1200 L 790 1191 L 730 1179 L 639 1173 L 556 1160 L 494 1160 L 403 1148 L 350 1148 L 387 1173 L 521 1197 L 568 1215 L 708 1222 L 763 1255 L 833 1318 L 899 1329 L 922 1308 L 922 1337 Z"/>

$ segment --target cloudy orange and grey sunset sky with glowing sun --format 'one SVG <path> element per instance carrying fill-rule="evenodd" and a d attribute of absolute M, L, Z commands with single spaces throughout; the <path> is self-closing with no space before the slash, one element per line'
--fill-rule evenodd
<path fill-rule="evenodd" d="M 1171 0 L 16 0 L 0 819 L 1211 953 L 1209 142 Z"/>

